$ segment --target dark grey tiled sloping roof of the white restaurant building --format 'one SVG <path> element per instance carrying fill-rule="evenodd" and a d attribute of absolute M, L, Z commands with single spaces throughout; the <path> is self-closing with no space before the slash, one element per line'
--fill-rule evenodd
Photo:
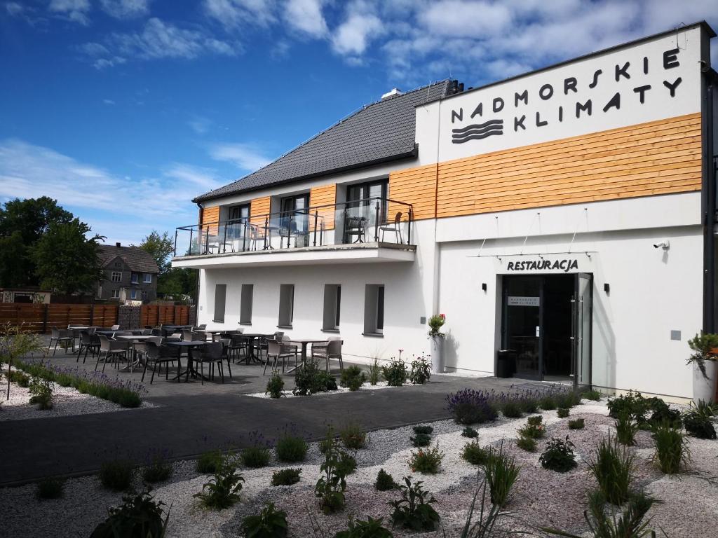
<path fill-rule="evenodd" d="M 414 107 L 444 97 L 448 84 L 448 80 L 434 82 L 366 105 L 264 168 L 193 201 L 202 202 L 353 166 L 411 156 L 415 146 Z"/>

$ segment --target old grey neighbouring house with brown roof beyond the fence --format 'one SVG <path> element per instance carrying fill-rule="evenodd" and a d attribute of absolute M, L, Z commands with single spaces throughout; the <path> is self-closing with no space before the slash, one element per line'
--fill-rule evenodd
<path fill-rule="evenodd" d="M 154 258 L 139 247 L 120 243 L 100 245 L 104 278 L 96 296 L 109 301 L 154 301 L 157 298 L 159 268 Z"/>

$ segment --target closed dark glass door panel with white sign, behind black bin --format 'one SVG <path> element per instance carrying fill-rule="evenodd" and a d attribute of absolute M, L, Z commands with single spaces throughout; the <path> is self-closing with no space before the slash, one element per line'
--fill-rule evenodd
<path fill-rule="evenodd" d="M 503 278 L 503 349 L 516 356 L 516 377 L 541 379 L 541 277 Z"/>

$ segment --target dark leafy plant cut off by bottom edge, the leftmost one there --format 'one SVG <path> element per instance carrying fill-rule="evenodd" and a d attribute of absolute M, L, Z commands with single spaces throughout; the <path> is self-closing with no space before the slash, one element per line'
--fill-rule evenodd
<path fill-rule="evenodd" d="M 167 530 L 169 510 L 162 519 L 162 501 L 148 491 L 122 497 L 123 504 L 108 510 L 108 518 L 95 527 L 90 538 L 162 538 Z"/>

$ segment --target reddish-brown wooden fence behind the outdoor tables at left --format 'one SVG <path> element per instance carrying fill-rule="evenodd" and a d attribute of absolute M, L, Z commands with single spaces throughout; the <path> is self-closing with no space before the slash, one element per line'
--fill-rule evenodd
<path fill-rule="evenodd" d="M 11 323 L 23 325 L 29 331 L 37 333 L 50 332 L 52 327 L 63 329 L 68 325 L 87 325 L 108 327 L 118 324 L 120 308 L 138 308 L 118 305 L 91 304 L 27 304 L 0 303 L 0 324 Z M 139 327 L 122 327 L 122 329 L 139 329 L 146 325 L 159 324 L 187 325 L 190 323 L 189 306 L 157 306 L 143 305 L 139 307 Z"/>

